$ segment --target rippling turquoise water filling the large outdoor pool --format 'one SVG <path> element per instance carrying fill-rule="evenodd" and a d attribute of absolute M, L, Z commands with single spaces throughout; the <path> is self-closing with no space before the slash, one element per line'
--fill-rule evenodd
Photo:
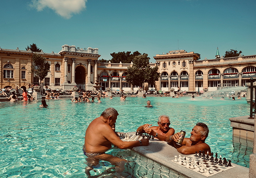
<path fill-rule="evenodd" d="M 153 108 L 144 107 L 147 100 L 151 100 Z M 81 151 L 84 134 L 90 122 L 108 107 L 119 113 L 116 122 L 119 132 L 133 132 L 146 123 L 156 125 L 158 116 L 166 114 L 175 131 L 185 130 L 189 137 L 196 122 L 204 122 L 210 130 L 206 142 L 212 152 L 249 167 L 252 146 L 240 140 L 232 141 L 228 120 L 249 115 L 250 106 L 244 99 L 129 97 L 123 102 L 120 97 L 114 97 L 113 100 L 103 98 L 101 104 L 75 104 L 70 99 L 50 100 L 47 104 L 49 108 L 39 108 L 40 102 L 0 103 L 0 177 L 86 177 L 85 156 Z M 116 149 L 109 152 L 130 161 L 126 165 L 130 177 L 150 177 L 143 176 L 148 174 L 172 177 L 173 173 L 164 166 L 156 170 L 145 167 L 144 162 L 137 161 L 145 158 L 138 154 Z"/>

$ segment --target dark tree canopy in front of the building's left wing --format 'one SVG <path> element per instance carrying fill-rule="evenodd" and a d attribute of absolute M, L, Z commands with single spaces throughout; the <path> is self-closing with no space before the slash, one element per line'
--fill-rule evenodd
<path fill-rule="evenodd" d="M 46 62 L 46 58 L 40 54 L 34 53 L 32 56 L 32 66 L 30 72 L 35 74 L 35 77 L 42 81 L 47 76 L 48 70 L 50 70 L 50 64 Z"/>

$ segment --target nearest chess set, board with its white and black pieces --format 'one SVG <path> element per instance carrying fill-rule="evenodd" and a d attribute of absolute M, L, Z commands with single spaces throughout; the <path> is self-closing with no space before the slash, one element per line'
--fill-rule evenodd
<path fill-rule="evenodd" d="M 202 174 L 206 177 L 218 174 L 219 172 L 234 168 L 234 164 L 231 164 L 231 160 L 226 160 L 226 158 L 220 157 L 218 158 L 218 154 L 215 154 L 215 159 L 213 156 L 213 153 L 211 154 L 211 157 L 209 154 L 205 154 L 205 152 L 199 151 L 199 154 L 196 152 L 196 154 L 193 156 L 187 156 L 187 157 L 181 157 L 174 156 L 175 159 L 172 160 L 172 162 L 175 162 L 176 164 L 179 164 L 183 167 L 186 167 L 190 170 L 193 170 L 199 174 Z M 177 158 L 178 157 L 178 158 Z"/>

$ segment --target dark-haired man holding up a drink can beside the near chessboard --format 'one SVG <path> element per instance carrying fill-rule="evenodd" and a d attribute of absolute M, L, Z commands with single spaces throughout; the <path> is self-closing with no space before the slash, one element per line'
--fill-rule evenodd
<path fill-rule="evenodd" d="M 209 155 L 211 155 L 211 148 L 208 144 L 205 143 L 208 133 L 208 126 L 202 122 L 198 122 L 196 123 L 196 126 L 192 128 L 192 132 L 190 132 L 190 138 L 184 138 L 182 145 L 176 144 L 176 142 L 178 142 L 178 140 L 180 140 L 182 137 L 180 132 L 167 137 L 166 142 L 173 143 L 174 147 L 181 154 L 195 154 L 196 152 L 199 153 L 199 150 L 204 150 L 205 153 L 208 151 Z"/>

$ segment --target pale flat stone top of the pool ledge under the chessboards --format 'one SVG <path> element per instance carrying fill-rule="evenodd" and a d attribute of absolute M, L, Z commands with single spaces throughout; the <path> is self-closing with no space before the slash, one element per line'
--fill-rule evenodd
<path fill-rule="evenodd" d="M 135 134 L 135 132 L 130 132 L 129 134 Z M 173 146 L 169 145 L 167 142 L 160 140 L 150 140 L 148 146 L 137 146 L 132 148 L 134 152 L 141 154 L 155 162 L 158 162 L 174 172 L 185 176 L 188 178 L 206 178 L 205 176 L 194 172 L 188 168 L 184 168 L 171 160 L 174 160 L 174 156 L 178 156 L 180 153 Z M 187 156 L 180 154 L 181 156 Z M 210 178 L 249 178 L 249 168 L 240 166 L 236 164 L 236 167 L 220 172 Z"/>

